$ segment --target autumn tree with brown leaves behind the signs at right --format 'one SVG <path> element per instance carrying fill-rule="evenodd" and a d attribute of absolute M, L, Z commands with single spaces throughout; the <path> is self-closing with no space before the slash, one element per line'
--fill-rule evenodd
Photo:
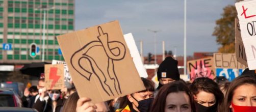
<path fill-rule="evenodd" d="M 237 0 L 239 2 L 241 0 Z M 235 52 L 235 18 L 237 18 L 236 7 L 228 5 L 223 9 L 221 18 L 216 20 L 213 36 L 216 36 L 216 42 L 220 44 L 219 52 Z"/>

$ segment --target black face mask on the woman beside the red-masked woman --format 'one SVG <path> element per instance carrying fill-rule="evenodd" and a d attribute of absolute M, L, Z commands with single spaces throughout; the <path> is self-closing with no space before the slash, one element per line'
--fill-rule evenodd
<path fill-rule="evenodd" d="M 203 106 L 197 102 L 195 104 L 196 104 L 197 112 L 216 112 L 218 107 L 217 102 L 214 105 L 209 107 Z"/>

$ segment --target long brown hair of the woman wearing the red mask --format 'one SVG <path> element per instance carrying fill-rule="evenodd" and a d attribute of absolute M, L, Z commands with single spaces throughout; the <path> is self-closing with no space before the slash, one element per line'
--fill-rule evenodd
<path fill-rule="evenodd" d="M 231 100 L 233 98 L 234 95 L 234 91 L 242 86 L 242 85 L 254 85 L 256 86 L 256 78 L 255 75 L 242 75 L 239 76 L 237 78 L 235 78 L 229 85 L 226 95 L 225 95 L 225 99 L 223 102 L 223 105 L 221 106 L 221 111 L 225 111 L 225 112 L 230 112 L 230 108 L 229 106 L 231 105 Z"/>

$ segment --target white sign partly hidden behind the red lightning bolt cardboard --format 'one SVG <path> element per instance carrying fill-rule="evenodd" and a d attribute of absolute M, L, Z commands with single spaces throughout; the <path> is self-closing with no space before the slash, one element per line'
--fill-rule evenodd
<path fill-rule="evenodd" d="M 71 76 L 69 74 L 69 70 L 68 70 L 66 62 L 58 61 L 58 60 L 53 60 L 52 64 L 53 65 L 55 65 L 55 64 L 63 64 L 64 65 L 64 81 L 67 81 L 67 82 L 71 82 L 72 81 L 72 78 L 71 78 Z"/>

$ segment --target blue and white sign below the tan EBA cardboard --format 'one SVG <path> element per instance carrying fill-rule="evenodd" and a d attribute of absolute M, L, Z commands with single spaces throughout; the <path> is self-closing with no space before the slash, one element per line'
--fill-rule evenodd
<path fill-rule="evenodd" d="M 228 81 L 232 81 L 236 77 L 240 76 L 243 69 L 227 69 L 227 68 L 216 68 L 216 76 L 224 76 Z"/>

